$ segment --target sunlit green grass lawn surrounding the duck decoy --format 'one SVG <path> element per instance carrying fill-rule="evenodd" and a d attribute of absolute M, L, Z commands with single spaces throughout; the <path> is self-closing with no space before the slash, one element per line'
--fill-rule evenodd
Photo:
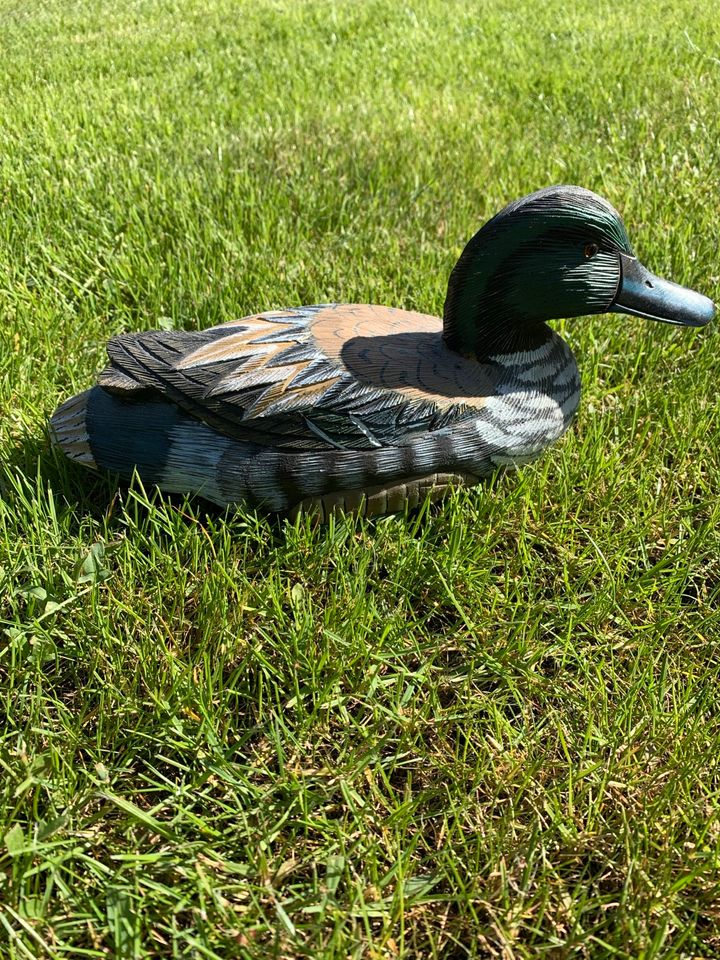
<path fill-rule="evenodd" d="M 323 528 L 50 450 L 122 330 L 442 309 L 576 182 L 718 298 L 690 0 L 0 0 L 0 955 L 720 954 L 717 333 L 560 324 L 569 435 Z"/>

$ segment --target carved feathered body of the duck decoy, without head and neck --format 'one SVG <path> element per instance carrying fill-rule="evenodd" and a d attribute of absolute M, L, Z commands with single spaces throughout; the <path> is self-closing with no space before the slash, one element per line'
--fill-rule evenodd
<path fill-rule="evenodd" d="M 98 386 L 53 417 L 75 459 L 170 491 L 283 510 L 416 502 L 536 456 L 567 426 L 575 361 L 548 329 L 528 354 L 450 351 L 442 322 L 369 305 L 129 334 Z"/>

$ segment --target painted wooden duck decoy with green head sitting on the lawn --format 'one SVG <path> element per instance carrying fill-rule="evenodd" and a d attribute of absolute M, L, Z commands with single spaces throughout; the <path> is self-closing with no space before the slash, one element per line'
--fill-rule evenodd
<path fill-rule="evenodd" d="M 321 304 L 123 334 L 52 436 L 86 466 L 220 505 L 395 511 L 557 440 L 580 379 L 547 321 L 607 312 L 699 327 L 715 307 L 649 273 L 607 201 L 549 187 L 470 240 L 442 321 Z"/>

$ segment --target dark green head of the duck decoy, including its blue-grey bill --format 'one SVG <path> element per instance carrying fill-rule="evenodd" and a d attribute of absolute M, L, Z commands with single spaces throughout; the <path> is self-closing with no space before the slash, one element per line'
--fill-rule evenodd
<path fill-rule="evenodd" d="M 646 270 L 602 197 L 547 187 L 505 207 L 465 247 L 450 276 L 443 336 L 459 353 L 487 356 L 532 346 L 547 336 L 547 320 L 610 312 L 700 327 L 715 307 Z"/>

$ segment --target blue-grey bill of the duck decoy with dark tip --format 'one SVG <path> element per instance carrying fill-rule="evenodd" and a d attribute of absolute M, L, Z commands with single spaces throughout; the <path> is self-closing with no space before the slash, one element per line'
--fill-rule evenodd
<path fill-rule="evenodd" d="M 682 327 L 704 327 L 715 316 L 708 297 L 650 273 L 636 257 L 620 254 L 621 277 L 610 310 L 662 320 Z"/>

